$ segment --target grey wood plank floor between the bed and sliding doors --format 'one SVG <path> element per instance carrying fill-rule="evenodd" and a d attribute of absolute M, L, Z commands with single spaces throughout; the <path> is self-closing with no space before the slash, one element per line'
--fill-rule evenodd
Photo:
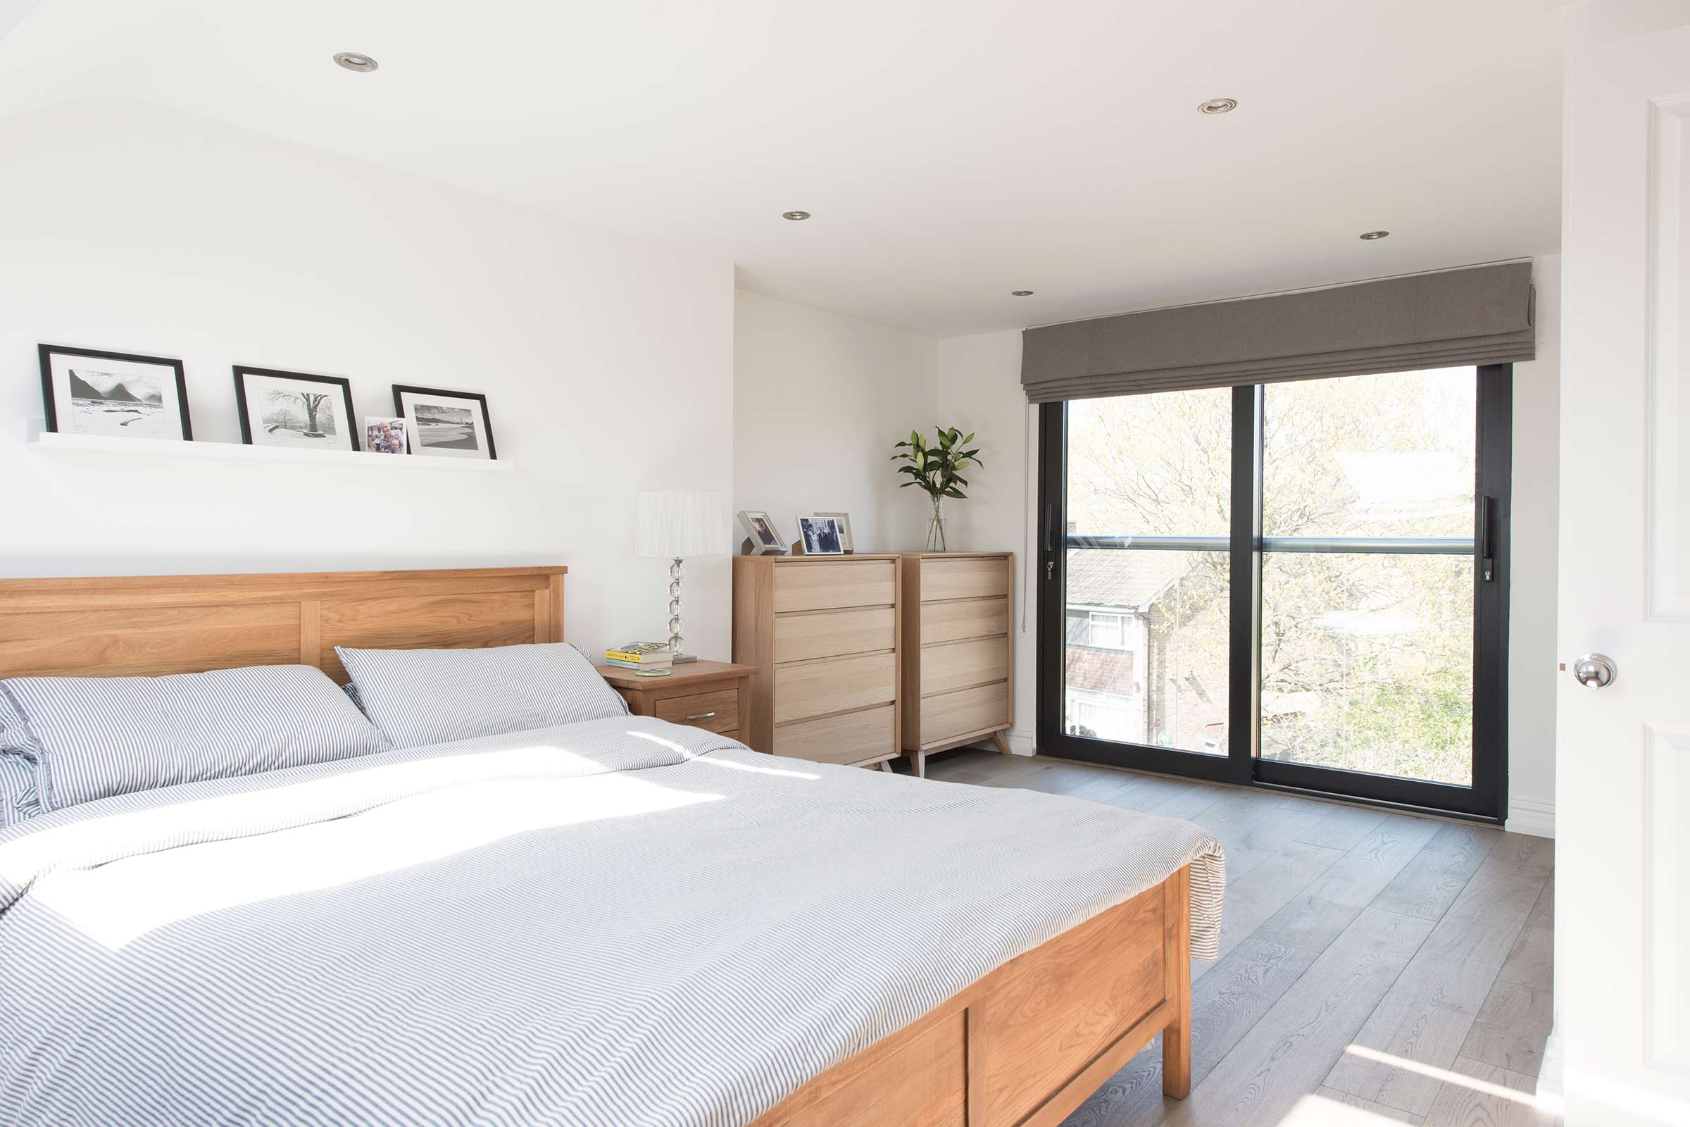
<path fill-rule="evenodd" d="M 1065 1127 L 1551 1127 L 1555 843 L 1264 791 L 960 750 L 936 779 L 1186 818 L 1227 850 L 1220 960 L 1191 965 L 1191 1095 L 1153 1043 Z"/>

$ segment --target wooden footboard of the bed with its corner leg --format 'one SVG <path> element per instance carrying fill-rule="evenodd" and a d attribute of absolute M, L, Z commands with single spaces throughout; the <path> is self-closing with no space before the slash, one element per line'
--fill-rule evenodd
<path fill-rule="evenodd" d="M 1191 1086 L 1191 872 L 973 983 L 842 1061 L 754 1127 L 1053 1127 L 1163 1034 L 1163 1092 Z"/>

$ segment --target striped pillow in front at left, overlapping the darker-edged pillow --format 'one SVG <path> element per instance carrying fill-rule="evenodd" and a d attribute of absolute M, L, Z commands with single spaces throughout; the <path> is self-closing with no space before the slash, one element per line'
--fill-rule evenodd
<path fill-rule="evenodd" d="M 389 749 L 340 686 L 311 666 L 0 684 L 41 745 L 35 789 L 47 811 Z"/>

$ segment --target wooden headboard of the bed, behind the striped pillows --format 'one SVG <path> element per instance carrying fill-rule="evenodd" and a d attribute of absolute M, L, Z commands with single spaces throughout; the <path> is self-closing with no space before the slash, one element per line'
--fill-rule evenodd
<path fill-rule="evenodd" d="M 346 671 L 336 645 L 563 640 L 568 568 L 0 580 L 0 678 Z"/>

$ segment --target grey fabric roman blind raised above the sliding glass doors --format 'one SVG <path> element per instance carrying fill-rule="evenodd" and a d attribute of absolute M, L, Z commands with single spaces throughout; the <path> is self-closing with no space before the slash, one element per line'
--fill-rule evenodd
<path fill-rule="evenodd" d="M 1022 333 L 1028 400 L 1511 363 L 1535 355 L 1531 264 L 1126 313 Z"/>

